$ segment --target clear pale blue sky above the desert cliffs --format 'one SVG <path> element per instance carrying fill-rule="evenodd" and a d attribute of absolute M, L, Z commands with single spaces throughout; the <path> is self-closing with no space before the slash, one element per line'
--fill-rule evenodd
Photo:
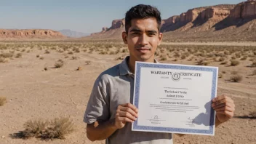
<path fill-rule="evenodd" d="M 160 10 L 162 19 L 167 19 L 194 7 L 239 2 L 241 0 L 0 0 L 0 29 L 71 29 L 93 33 L 109 28 L 112 20 L 124 18 L 125 12 L 137 4 L 151 4 Z"/>

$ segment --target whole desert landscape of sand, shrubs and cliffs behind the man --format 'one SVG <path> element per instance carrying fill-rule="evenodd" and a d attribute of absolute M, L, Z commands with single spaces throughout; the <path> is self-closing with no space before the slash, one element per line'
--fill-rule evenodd
<path fill-rule="evenodd" d="M 0 30 L 0 143 L 105 143 L 87 139 L 83 116 L 101 72 L 129 55 L 124 19 L 81 38 L 52 30 Z M 160 63 L 216 66 L 217 95 L 234 100 L 215 136 L 175 144 L 256 143 L 256 1 L 189 9 L 162 21 Z"/>

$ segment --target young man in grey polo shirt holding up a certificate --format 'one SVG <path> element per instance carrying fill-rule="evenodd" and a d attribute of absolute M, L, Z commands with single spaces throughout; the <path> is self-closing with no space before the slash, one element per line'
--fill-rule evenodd
<path fill-rule="evenodd" d="M 95 81 L 84 113 L 89 140 L 106 140 L 111 144 L 172 143 L 169 133 L 131 130 L 132 122 L 139 116 L 139 110 L 131 104 L 135 61 L 157 63 L 154 53 L 163 37 L 160 26 L 161 15 L 155 7 L 140 4 L 126 13 L 122 38 L 128 46 L 129 57 L 101 73 Z M 215 98 L 212 107 L 217 111 L 216 125 L 233 116 L 234 104 L 229 97 Z"/>

